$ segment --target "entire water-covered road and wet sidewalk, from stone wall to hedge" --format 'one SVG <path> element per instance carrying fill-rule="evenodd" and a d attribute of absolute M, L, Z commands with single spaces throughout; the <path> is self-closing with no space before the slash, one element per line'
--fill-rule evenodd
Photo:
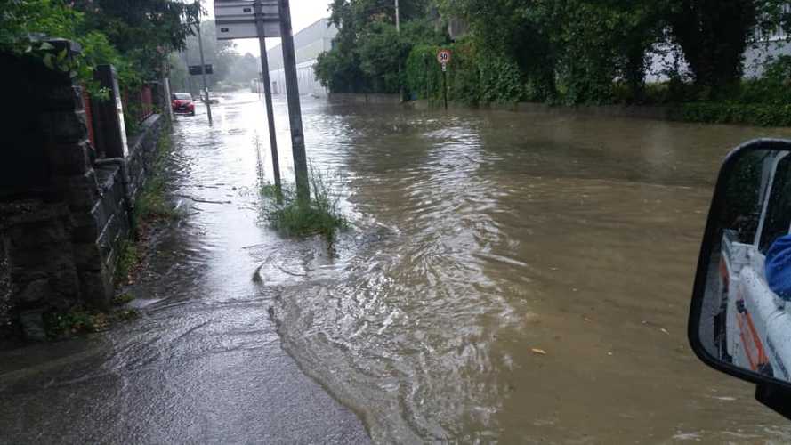
<path fill-rule="evenodd" d="M 722 157 L 791 131 L 303 97 L 351 222 L 331 250 L 262 221 L 257 97 L 200 111 L 143 317 L 4 352 L 0 442 L 791 440 L 685 336 Z"/>

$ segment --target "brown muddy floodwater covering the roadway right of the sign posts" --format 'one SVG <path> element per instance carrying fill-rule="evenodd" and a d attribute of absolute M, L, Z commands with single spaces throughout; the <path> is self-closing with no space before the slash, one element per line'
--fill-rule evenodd
<path fill-rule="evenodd" d="M 283 289 L 279 332 L 375 441 L 791 441 L 685 336 L 720 161 L 791 132 L 321 101 L 304 113 L 309 156 L 342 174 L 355 229 L 334 261 L 291 266 L 305 277 Z"/>

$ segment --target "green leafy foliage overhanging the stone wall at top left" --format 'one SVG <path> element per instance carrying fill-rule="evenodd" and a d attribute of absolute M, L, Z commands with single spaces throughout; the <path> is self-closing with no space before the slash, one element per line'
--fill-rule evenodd
<path fill-rule="evenodd" d="M 126 87 L 160 77 L 169 49 L 182 48 L 199 5 L 176 0 L 7 0 L 0 12 L 0 51 L 33 57 L 49 69 L 69 72 L 101 95 L 93 68 L 110 63 Z M 74 57 L 53 52 L 50 38 L 82 46 Z"/>

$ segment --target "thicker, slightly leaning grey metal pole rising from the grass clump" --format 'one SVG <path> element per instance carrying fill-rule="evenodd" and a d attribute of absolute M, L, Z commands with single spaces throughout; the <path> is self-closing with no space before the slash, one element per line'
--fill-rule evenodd
<path fill-rule="evenodd" d="M 291 7 L 288 0 L 279 0 L 280 38 L 283 47 L 283 69 L 286 71 L 286 93 L 288 101 L 288 121 L 291 125 L 291 151 L 294 158 L 296 176 L 296 198 L 307 204 L 311 199 L 308 180 L 308 160 L 305 156 L 305 137 L 303 132 L 303 113 L 299 103 L 299 85 L 296 77 L 296 56 L 294 36 L 291 35 Z"/>

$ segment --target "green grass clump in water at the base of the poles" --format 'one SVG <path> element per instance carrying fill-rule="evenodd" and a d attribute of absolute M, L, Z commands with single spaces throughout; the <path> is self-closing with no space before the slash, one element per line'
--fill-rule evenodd
<path fill-rule="evenodd" d="M 266 217 L 272 227 L 288 235 L 308 237 L 321 235 L 328 241 L 335 239 L 335 232 L 349 226 L 338 206 L 339 198 L 332 193 L 326 174 L 313 168 L 310 172 L 311 199 L 307 202 L 296 198 L 293 188 L 278 190 L 267 184 L 262 187 L 264 197 L 272 202 Z"/>

